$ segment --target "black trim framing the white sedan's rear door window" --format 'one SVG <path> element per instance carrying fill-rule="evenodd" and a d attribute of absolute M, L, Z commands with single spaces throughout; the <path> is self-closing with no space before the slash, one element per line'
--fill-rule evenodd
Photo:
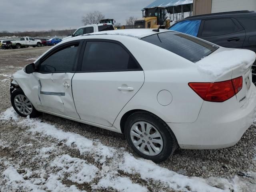
<path fill-rule="evenodd" d="M 83 63 L 83 59 L 84 59 L 84 51 L 85 51 L 87 42 L 109 42 L 109 43 L 115 43 L 115 44 L 120 45 L 130 55 L 130 57 L 132 57 L 132 59 L 135 61 L 136 65 L 138 66 L 138 69 L 82 71 L 81 69 L 82 69 L 82 63 Z M 80 51 L 80 57 L 79 57 L 78 66 L 76 68 L 76 73 L 97 73 L 97 72 L 101 73 L 101 72 L 122 72 L 122 71 L 143 71 L 139 62 L 132 55 L 132 53 L 126 48 L 126 46 L 124 46 L 124 44 L 122 44 L 121 42 L 116 41 L 116 40 L 108 40 L 108 39 L 86 39 L 86 40 L 84 40 L 84 44 Z"/>

